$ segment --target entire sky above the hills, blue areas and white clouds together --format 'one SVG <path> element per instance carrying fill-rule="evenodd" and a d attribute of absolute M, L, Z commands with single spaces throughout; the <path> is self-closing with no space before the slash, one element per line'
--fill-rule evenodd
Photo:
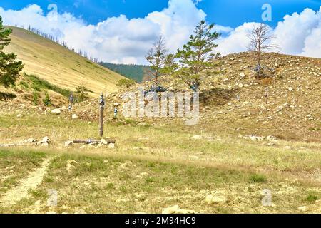
<path fill-rule="evenodd" d="M 263 21 L 263 4 L 272 7 L 271 21 Z M 321 0 L 1 0 L 0 15 L 6 25 L 37 28 L 101 61 L 145 64 L 159 36 L 175 53 L 204 19 L 222 33 L 222 55 L 247 51 L 248 31 L 264 22 L 280 53 L 321 58 L 320 6 Z"/>

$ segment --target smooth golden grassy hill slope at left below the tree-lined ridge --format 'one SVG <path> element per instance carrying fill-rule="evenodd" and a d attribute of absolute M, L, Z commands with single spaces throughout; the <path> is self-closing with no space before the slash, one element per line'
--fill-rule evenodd
<path fill-rule="evenodd" d="M 35 33 L 10 28 L 13 29 L 12 40 L 6 51 L 16 53 L 28 74 L 70 90 L 84 83 L 95 94 L 116 91 L 116 83 L 124 78 Z"/>

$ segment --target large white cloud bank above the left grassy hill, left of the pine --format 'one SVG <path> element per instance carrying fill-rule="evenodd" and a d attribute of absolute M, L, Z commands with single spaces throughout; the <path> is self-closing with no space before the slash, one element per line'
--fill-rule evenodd
<path fill-rule="evenodd" d="M 196 24 L 206 14 L 193 0 L 169 0 L 168 8 L 154 11 L 145 18 L 128 19 L 125 15 L 111 17 L 96 25 L 87 25 L 69 13 L 51 11 L 44 15 L 33 4 L 19 11 L 0 8 L 5 24 L 29 26 L 58 36 L 76 49 L 103 61 L 113 63 L 145 63 L 145 53 L 163 35 L 170 51 L 188 41 Z M 220 26 L 221 31 L 230 28 Z"/>

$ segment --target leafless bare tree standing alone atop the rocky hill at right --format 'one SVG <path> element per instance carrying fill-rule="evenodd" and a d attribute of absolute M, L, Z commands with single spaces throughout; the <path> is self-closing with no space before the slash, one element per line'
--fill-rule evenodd
<path fill-rule="evenodd" d="M 253 26 L 253 29 L 248 33 L 248 38 L 250 38 L 249 51 L 255 53 L 255 59 L 258 63 L 256 67 L 257 77 L 260 78 L 262 53 L 278 48 L 278 46 L 271 43 L 275 36 L 272 35 L 270 27 L 263 23 Z"/>

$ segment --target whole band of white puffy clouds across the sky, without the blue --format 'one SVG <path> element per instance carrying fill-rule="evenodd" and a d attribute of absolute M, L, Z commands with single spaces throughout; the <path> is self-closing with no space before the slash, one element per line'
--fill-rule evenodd
<path fill-rule="evenodd" d="M 128 19 L 125 15 L 111 17 L 95 25 L 78 19 L 70 13 L 44 14 L 40 6 L 32 4 L 24 9 L 4 10 L 0 15 L 4 24 L 31 25 L 51 33 L 75 49 L 112 63 L 146 63 L 145 54 L 156 39 L 163 35 L 170 52 L 175 52 L 188 41 L 199 21 L 206 18 L 195 0 L 169 0 L 168 8 L 154 11 L 144 18 Z M 215 30 L 224 36 L 218 40 L 221 54 L 247 51 L 248 31 L 255 25 L 246 22 L 237 28 L 217 25 Z M 271 28 L 272 29 L 272 28 Z M 281 53 L 321 57 L 321 7 L 319 11 L 305 9 L 300 14 L 284 17 L 272 31 L 273 43 Z"/>

